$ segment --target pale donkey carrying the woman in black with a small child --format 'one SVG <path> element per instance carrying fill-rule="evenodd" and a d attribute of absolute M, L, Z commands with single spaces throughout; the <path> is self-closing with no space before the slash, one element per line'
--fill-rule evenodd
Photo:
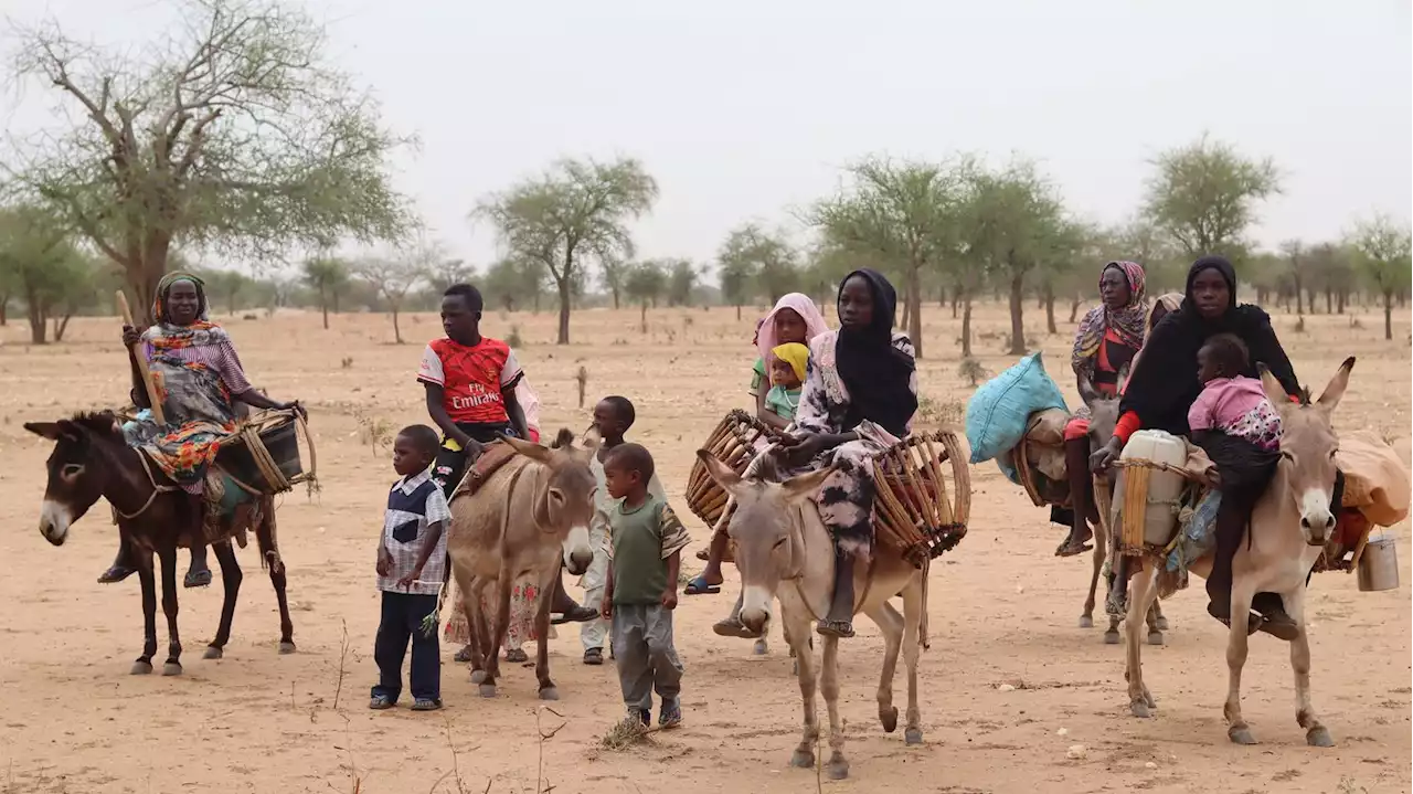
<path fill-rule="evenodd" d="M 1345 387 L 1354 357 L 1345 359 L 1320 400 L 1310 403 L 1301 394 L 1293 404 L 1280 383 L 1260 367 L 1266 396 L 1280 413 L 1280 462 L 1266 493 L 1256 502 L 1251 516 L 1246 541 L 1232 562 L 1231 632 L 1226 639 L 1226 736 L 1238 745 L 1255 745 L 1251 728 L 1241 713 L 1241 672 L 1246 664 L 1251 603 L 1259 592 L 1273 592 L 1282 598 L 1286 612 L 1297 626 L 1290 643 L 1290 667 L 1296 672 L 1296 722 L 1306 729 L 1306 742 L 1314 747 L 1331 747 L 1334 739 L 1320 723 L 1310 704 L 1310 636 L 1306 632 L 1306 581 L 1310 569 L 1324 552 L 1334 531 L 1335 517 L 1330 499 L 1335 485 L 1335 452 L 1340 439 L 1330 418 Z M 1143 648 L 1137 641 L 1136 616 L 1157 598 L 1157 569 L 1149 561 L 1142 575 L 1133 578 L 1133 598 L 1129 600 L 1128 663 L 1129 711 L 1133 716 L 1149 716 L 1156 708 L 1153 695 L 1143 681 Z M 1190 571 L 1198 576 L 1211 572 L 1211 557 L 1195 561 Z"/>

